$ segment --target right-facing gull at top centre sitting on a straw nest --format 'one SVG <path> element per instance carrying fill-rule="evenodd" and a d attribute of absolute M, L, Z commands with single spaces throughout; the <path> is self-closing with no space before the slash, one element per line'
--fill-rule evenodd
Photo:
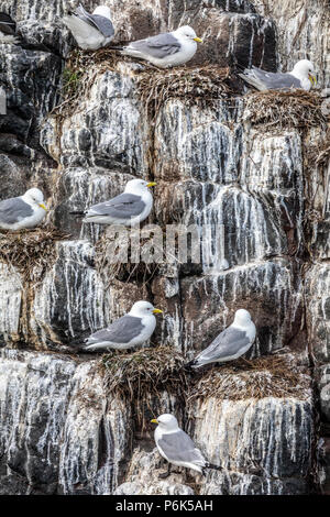
<path fill-rule="evenodd" d="M 145 59 L 161 68 L 184 65 L 197 51 L 197 43 L 202 43 L 189 25 L 180 26 L 176 31 L 165 32 L 146 40 L 138 40 L 127 46 L 109 48 L 120 51 L 125 56 Z"/>

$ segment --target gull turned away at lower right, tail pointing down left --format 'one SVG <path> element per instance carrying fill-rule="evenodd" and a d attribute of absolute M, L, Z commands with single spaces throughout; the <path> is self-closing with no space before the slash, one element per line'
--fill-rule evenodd
<path fill-rule="evenodd" d="M 255 340 L 255 324 L 249 310 L 239 309 L 227 329 L 200 352 L 186 367 L 199 369 L 209 363 L 226 363 L 243 355 Z"/>

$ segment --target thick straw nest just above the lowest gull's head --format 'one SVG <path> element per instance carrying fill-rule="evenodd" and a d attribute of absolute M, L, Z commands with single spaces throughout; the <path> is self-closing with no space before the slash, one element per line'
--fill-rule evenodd
<path fill-rule="evenodd" d="M 162 392 L 182 399 L 187 388 L 185 359 L 170 346 L 146 348 L 133 353 L 103 355 L 105 387 L 118 398 L 128 398 L 142 407 L 152 394 Z"/>

